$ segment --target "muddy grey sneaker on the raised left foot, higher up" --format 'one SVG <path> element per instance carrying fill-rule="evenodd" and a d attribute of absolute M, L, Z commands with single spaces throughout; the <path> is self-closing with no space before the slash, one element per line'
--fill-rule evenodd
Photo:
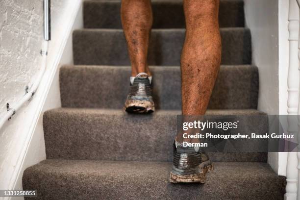
<path fill-rule="evenodd" d="M 151 113 L 154 111 L 150 78 L 140 73 L 130 81 L 129 95 L 125 107 L 129 113 Z"/>

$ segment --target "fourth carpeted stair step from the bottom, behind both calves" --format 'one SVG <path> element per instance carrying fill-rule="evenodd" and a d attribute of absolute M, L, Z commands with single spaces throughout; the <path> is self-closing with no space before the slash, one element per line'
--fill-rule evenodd
<path fill-rule="evenodd" d="M 180 65 L 185 29 L 153 29 L 149 65 Z M 250 30 L 221 28 L 222 64 L 251 64 Z M 75 65 L 130 65 L 123 30 L 80 29 L 73 32 Z"/>

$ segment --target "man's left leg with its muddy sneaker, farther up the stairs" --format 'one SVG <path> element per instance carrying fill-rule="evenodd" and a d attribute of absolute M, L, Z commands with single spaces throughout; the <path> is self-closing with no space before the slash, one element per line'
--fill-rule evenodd
<path fill-rule="evenodd" d="M 152 26 L 150 0 L 122 0 L 121 19 L 131 61 L 129 95 L 125 111 L 148 113 L 154 111 L 152 76 L 147 63 L 149 37 Z"/>

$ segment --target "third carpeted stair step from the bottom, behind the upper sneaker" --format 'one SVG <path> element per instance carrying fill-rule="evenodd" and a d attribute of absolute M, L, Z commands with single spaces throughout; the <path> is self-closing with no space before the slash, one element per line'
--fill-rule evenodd
<path fill-rule="evenodd" d="M 181 109 L 180 67 L 150 67 L 156 109 Z M 122 109 L 129 91 L 130 67 L 64 66 L 60 69 L 63 107 Z M 223 65 L 210 100 L 212 109 L 256 109 L 255 66 Z"/>

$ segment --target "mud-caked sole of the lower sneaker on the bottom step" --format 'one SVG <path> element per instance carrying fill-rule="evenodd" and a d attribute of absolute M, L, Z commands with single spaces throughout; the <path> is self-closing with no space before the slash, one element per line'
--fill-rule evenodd
<path fill-rule="evenodd" d="M 202 169 L 202 173 L 194 174 L 194 175 L 177 175 L 171 172 L 169 181 L 171 183 L 196 183 L 196 182 L 205 183 L 206 181 L 205 175 L 206 173 L 214 170 L 214 165 L 212 163 L 210 165 L 206 165 L 202 167 L 201 169 Z"/>

